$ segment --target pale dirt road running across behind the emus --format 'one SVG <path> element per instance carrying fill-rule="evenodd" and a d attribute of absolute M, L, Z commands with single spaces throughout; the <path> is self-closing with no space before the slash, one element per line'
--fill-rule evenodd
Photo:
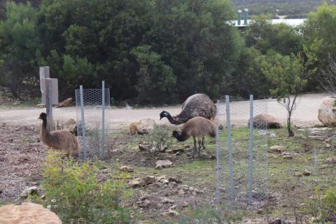
<path fill-rule="evenodd" d="M 293 122 L 295 125 L 311 126 L 321 124 L 318 119 L 318 106 L 321 104 L 323 97 L 327 94 L 303 94 L 297 99 L 297 109 L 293 114 Z M 246 123 L 249 116 L 248 102 L 231 102 L 231 119 L 233 123 Z M 179 114 L 181 105 L 156 107 L 156 108 L 143 108 L 143 109 L 106 109 L 106 119 L 111 121 L 114 128 L 123 127 L 129 123 L 140 120 L 141 118 L 152 118 L 159 124 L 167 124 L 167 119 L 159 120 L 159 114 L 162 110 L 169 111 L 172 115 Z M 38 124 L 37 120 L 39 113 L 45 111 L 41 108 L 29 109 L 1 109 L 0 107 L 0 123 Z M 281 123 L 286 123 L 287 113 L 286 109 L 279 105 L 275 99 L 267 99 L 264 101 L 255 101 L 255 114 L 269 113 L 278 118 Z M 54 109 L 56 118 L 68 119 L 74 118 L 76 120 L 77 112 L 76 107 L 68 107 L 62 109 Z M 85 120 L 97 121 L 100 120 L 101 111 L 99 108 L 86 108 Z M 221 107 L 219 113 L 220 119 L 225 119 L 225 105 Z"/>

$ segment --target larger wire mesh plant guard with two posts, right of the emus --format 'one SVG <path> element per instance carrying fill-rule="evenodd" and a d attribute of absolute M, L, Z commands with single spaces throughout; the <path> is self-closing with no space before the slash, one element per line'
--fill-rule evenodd
<path fill-rule="evenodd" d="M 268 193 L 267 102 L 253 100 L 252 96 L 249 100 L 227 96 L 216 106 L 216 199 L 249 205 L 264 203 Z M 220 130 L 219 124 L 225 129 Z"/>

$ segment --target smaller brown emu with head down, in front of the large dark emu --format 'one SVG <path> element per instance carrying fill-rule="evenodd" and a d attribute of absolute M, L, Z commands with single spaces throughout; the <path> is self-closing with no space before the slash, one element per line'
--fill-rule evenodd
<path fill-rule="evenodd" d="M 200 157 L 201 153 L 201 136 L 209 135 L 210 137 L 216 137 L 216 127 L 215 125 L 208 120 L 207 118 L 196 117 L 191 118 L 186 123 L 183 124 L 181 128 L 181 134 L 178 131 L 174 131 L 172 136 L 175 137 L 178 141 L 186 141 L 190 137 L 194 139 L 194 150 L 193 158 L 195 152 L 197 151 L 196 138 L 198 138 L 198 156 Z"/>

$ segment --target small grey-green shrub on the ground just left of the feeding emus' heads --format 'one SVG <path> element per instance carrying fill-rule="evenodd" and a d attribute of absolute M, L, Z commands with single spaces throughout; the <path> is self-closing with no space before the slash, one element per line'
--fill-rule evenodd
<path fill-rule="evenodd" d="M 154 125 L 145 140 L 154 151 L 164 151 L 172 146 L 172 129 L 167 125 Z"/>

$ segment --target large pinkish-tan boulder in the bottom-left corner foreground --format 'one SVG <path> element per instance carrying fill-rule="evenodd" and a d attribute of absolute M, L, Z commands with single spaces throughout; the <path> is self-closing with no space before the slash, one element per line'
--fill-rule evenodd
<path fill-rule="evenodd" d="M 7 204 L 0 207 L 1 224 L 62 224 L 62 221 L 52 211 L 43 208 L 41 204 L 22 203 Z"/>

